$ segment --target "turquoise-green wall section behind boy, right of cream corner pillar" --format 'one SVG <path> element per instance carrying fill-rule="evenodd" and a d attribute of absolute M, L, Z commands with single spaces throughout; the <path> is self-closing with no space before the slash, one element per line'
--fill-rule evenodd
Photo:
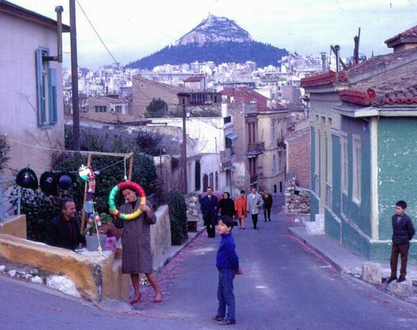
<path fill-rule="evenodd" d="M 396 201 L 417 223 L 417 118 L 379 118 L 377 141 L 379 239 L 391 240 Z"/>

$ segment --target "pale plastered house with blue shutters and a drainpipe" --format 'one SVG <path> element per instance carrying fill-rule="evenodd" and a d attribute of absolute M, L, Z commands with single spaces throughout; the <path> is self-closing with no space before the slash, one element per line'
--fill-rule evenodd
<path fill-rule="evenodd" d="M 51 150 L 64 146 L 58 35 L 70 27 L 58 24 L 62 7 L 55 9 L 57 20 L 0 0 L 0 134 L 11 147 L 3 175 L 26 166 L 42 173 L 51 168 Z"/>

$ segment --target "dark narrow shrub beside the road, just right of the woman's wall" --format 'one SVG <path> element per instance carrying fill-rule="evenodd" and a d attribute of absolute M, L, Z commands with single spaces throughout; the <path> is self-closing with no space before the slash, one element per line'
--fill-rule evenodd
<path fill-rule="evenodd" d="M 171 223 L 171 244 L 181 245 L 188 239 L 186 199 L 179 191 L 168 195 L 168 209 Z"/>

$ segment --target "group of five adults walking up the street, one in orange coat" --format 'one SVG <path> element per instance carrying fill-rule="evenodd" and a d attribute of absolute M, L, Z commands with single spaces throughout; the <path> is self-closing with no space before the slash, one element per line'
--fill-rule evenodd
<path fill-rule="evenodd" d="M 208 237 L 215 237 L 215 226 L 218 218 L 224 215 L 234 219 L 234 226 L 246 229 L 245 219 L 247 214 L 252 218 L 253 228 L 258 228 L 258 215 L 263 208 L 263 218 L 265 221 L 271 221 L 272 196 L 268 190 L 264 189 L 263 194 L 259 194 L 256 187 L 252 187 L 251 193 L 245 196 L 245 190 L 240 190 L 240 195 L 234 201 L 230 193 L 224 191 L 222 198 L 213 195 L 213 189 L 207 187 L 206 195 L 202 197 L 200 206 L 206 226 Z"/>

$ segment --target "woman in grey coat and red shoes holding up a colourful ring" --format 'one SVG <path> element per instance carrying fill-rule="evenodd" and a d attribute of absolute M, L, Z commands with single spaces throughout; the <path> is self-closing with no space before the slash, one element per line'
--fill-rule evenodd
<path fill-rule="evenodd" d="M 162 301 L 162 292 L 158 286 L 158 280 L 154 274 L 152 265 L 150 225 L 156 222 L 156 216 L 149 201 L 140 203 L 136 191 L 131 188 L 122 189 L 122 195 L 126 203 L 120 206 L 120 212 L 131 214 L 138 210 L 140 215 L 127 220 L 121 217 L 113 217 L 116 228 L 123 228 L 122 233 L 122 273 L 130 274 L 135 291 L 131 304 L 140 301 L 142 294 L 139 289 L 139 274 L 144 273 L 149 283 L 155 290 L 155 303 Z"/>

